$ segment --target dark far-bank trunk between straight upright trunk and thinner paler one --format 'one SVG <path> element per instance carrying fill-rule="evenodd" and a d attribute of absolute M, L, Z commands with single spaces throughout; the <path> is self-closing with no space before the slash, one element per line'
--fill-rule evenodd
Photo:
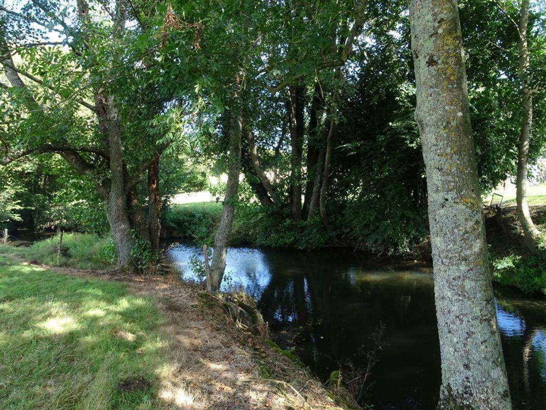
<path fill-rule="evenodd" d="M 317 177 L 317 172 L 322 172 L 322 166 L 318 166 L 318 157 L 321 150 L 321 141 L 319 134 L 319 116 L 322 112 L 323 98 L 321 97 L 321 87 L 315 84 L 313 92 L 313 100 L 311 109 L 309 110 L 309 127 L 307 131 L 307 181 L 305 184 L 303 216 L 307 220 L 311 215 L 311 198 L 313 196 L 314 181 Z M 323 160 L 324 161 L 324 160 Z M 321 171 L 318 171 L 318 168 Z"/>

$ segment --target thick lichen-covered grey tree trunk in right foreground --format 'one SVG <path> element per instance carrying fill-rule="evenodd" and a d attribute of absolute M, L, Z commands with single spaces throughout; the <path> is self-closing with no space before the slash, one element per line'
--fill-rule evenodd
<path fill-rule="evenodd" d="M 442 359 L 438 409 L 509 410 L 456 2 L 411 0 L 410 23 Z"/>

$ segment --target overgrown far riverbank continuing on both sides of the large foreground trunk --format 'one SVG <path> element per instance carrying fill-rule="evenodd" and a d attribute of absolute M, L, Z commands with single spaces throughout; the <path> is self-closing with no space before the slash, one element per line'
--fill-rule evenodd
<path fill-rule="evenodd" d="M 541 191 L 542 192 L 542 191 Z M 533 221 L 543 232 L 546 248 L 546 205 L 543 196 L 531 196 L 530 202 Z M 523 232 L 518 222 L 517 209 L 513 200 L 508 200 L 511 206 L 498 212 L 495 209 L 484 208 L 486 237 L 489 244 L 492 279 L 502 285 L 514 286 L 527 293 L 546 295 L 546 250 L 542 256 L 530 255 L 522 244 Z M 222 213 L 222 206 L 216 202 L 200 202 L 178 204 L 167 213 L 164 237 L 176 239 L 189 237 L 199 243 L 213 243 L 213 233 Z M 251 223 L 245 222 L 250 220 Z M 324 237 L 321 228 L 313 225 L 298 229 L 292 222 L 271 228 L 267 238 L 259 235 L 266 221 L 256 218 L 241 218 L 235 214 L 235 221 L 230 245 L 250 245 L 251 247 L 279 247 L 292 249 L 316 249 L 346 247 L 361 249 L 354 243 L 348 244 Z M 306 222 L 302 222 L 302 226 Z M 260 227 L 261 226 L 261 227 Z M 308 235 L 306 230 L 310 230 Z M 276 233 L 282 231 L 281 233 Z M 313 236 L 313 232 L 316 235 Z M 306 238 L 313 238 L 306 239 Z M 430 262 L 431 249 L 428 241 L 414 247 L 411 253 L 402 257 Z M 373 253 L 372 253 L 373 255 Z"/>

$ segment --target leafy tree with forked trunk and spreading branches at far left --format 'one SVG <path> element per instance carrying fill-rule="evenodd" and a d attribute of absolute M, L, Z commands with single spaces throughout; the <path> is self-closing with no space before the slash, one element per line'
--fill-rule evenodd
<path fill-rule="evenodd" d="M 123 1 L 105 5 L 78 0 L 75 5 L 66 6 L 31 1 L 25 14 L 4 8 L 2 11 L 9 20 L 1 22 L 0 62 L 11 87 L 1 88 L 10 94 L 12 102 L 17 101 L 15 112 L 7 110 L 6 115 L 11 115 L 11 124 L 27 124 L 32 130 L 29 134 L 10 136 L 15 149 L 6 153 L 2 164 L 29 154 L 57 153 L 77 172 L 91 178 L 104 200 L 116 243 L 117 265 L 127 266 L 133 262 L 135 239 L 146 248 L 158 246 L 157 201 L 150 204 L 147 221 L 136 186 L 144 180 L 143 173 L 149 171 L 149 202 L 156 200 L 155 165 L 169 142 L 161 134 L 136 133 L 142 128 L 136 123 L 142 124 L 140 115 L 150 114 L 146 106 L 152 107 L 152 118 L 162 114 L 162 103 L 171 97 L 160 96 L 162 84 L 157 71 L 146 66 L 146 62 L 135 62 L 145 60 L 150 50 L 157 48 L 159 39 L 146 43 L 143 52 L 138 36 L 146 39 L 150 33 L 143 24 L 140 30 L 129 30 L 126 23 L 131 18 L 141 21 L 146 15 L 134 8 L 129 10 Z M 150 23 L 155 30 L 153 21 Z M 48 42 L 30 43 L 33 37 L 51 31 L 50 27 L 57 27 L 53 31 L 67 48 L 50 46 Z M 11 57 L 14 51 L 21 55 L 23 67 Z M 142 70 L 143 66 L 147 70 Z M 129 80 L 135 78 L 140 83 Z M 93 103 L 88 102 L 90 99 Z M 88 113 L 74 109 L 72 101 Z M 67 108 L 70 118 L 63 111 Z M 78 130 L 67 132 L 74 128 L 73 119 L 76 123 L 92 122 L 94 129 L 85 130 L 85 137 Z M 152 128 L 164 127 L 156 122 Z M 139 149 L 128 149 L 132 147 Z"/>

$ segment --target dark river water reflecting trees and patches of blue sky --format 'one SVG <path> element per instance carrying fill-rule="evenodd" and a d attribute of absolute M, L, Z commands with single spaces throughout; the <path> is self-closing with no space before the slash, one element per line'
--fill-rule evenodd
<path fill-rule="evenodd" d="M 192 244 L 168 250 L 185 278 Z M 440 387 L 431 269 L 372 260 L 348 251 L 230 248 L 223 283 L 243 286 L 281 344 L 323 380 L 340 366 L 367 364 L 365 352 L 385 326 L 364 401 L 378 410 L 433 410 Z M 495 289 L 497 318 L 515 409 L 546 409 L 546 298 Z"/>

